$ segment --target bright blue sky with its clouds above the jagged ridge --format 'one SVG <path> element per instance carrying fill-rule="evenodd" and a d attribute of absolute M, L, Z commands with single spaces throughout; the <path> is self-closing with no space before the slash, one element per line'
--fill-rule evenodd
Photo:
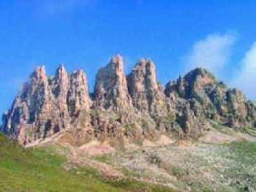
<path fill-rule="evenodd" d="M 256 99 L 255 1 L 0 0 L 0 112 L 36 65 L 54 74 L 122 54 L 125 72 L 150 57 L 165 84 L 202 66 Z M 254 72 L 254 73 L 253 73 Z"/>

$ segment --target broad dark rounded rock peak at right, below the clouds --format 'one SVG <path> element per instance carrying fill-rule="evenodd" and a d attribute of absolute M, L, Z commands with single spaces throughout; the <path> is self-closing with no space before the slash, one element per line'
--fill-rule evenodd
<path fill-rule="evenodd" d="M 237 89 L 218 82 L 210 72 L 196 68 L 177 81 L 170 81 L 166 95 L 186 99 L 198 118 L 217 120 L 230 127 L 252 127 L 255 124 L 255 107 Z"/>

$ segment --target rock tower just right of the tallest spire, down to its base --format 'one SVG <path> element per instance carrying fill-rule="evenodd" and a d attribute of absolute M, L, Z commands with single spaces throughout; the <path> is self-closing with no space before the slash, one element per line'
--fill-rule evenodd
<path fill-rule="evenodd" d="M 127 82 L 132 106 L 142 122 L 143 135 L 152 139 L 157 132 L 173 131 L 175 115 L 173 111 L 168 111 L 166 96 L 157 82 L 153 61 L 141 58 L 127 76 Z"/>

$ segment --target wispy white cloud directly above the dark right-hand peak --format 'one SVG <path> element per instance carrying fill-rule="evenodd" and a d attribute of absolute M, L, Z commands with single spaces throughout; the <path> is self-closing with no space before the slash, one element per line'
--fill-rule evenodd
<path fill-rule="evenodd" d="M 218 74 L 230 60 L 232 45 L 237 40 L 236 33 L 211 34 L 204 40 L 200 40 L 193 45 L 183 59 L 186 70 L 195 67 L 204 67 Z"/>

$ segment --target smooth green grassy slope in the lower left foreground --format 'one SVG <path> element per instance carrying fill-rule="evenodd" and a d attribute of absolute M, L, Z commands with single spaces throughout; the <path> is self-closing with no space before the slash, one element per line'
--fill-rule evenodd
<path fill-rule="evenodd" d="M 25 150 L 0 134 L 0 191 L 166 191 L 134 180 L 110 182 L 89 168 L 67 171 L 63 163 L 65 157 Z"/>

